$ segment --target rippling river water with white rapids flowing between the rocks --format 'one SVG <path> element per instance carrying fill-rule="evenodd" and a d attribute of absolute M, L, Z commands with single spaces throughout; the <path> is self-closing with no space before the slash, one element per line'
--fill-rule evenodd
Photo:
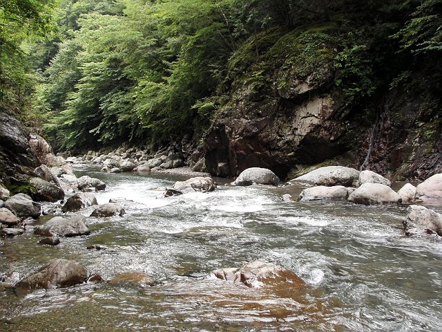
<path fill-rule="evenodd" d="M 64 258 L 104 279 L 135 271 L 157 284 L 0 288 L 0 331 L 442 331 L 442 241 L 405 236 L 405 207 L 281 201 L 296 185 L 158 198 L 183 178 L 75 173 L 106 182 L 98 203 L 131 200 L 126 214 L 89 218 L 90 235 L 56 247 L 32 233 L 4 239 L 0 273 L 23 277 Z M 307 287 L 272 294 L 209 276 L 256 259 L 294 270 Z"/>

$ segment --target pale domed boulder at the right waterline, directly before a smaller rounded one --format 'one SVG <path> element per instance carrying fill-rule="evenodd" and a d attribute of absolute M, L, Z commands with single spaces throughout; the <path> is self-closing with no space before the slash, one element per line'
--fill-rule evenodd
<path fill-rule="evenodd" d="M 392 188 L 381 183 L 364 183 L 350 194 L 348 200 L 364 205 L 401 203 L 401 197 Z"/>

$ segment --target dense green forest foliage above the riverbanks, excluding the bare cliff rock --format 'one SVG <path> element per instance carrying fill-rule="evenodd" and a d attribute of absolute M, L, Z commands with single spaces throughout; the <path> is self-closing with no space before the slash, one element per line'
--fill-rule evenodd
<path fill-rule="evenodd" d="M 441 0 L 0 6 L 1 107 L 57 150 L 204 142 L 227 109 L 275 95 L 298 104 L 312 91 L 332 91 L 347 133 L 370 129 L 389 91 L 417 95 L 413 121 L 425 123 L 432 142 L 440 135 Z"/>

